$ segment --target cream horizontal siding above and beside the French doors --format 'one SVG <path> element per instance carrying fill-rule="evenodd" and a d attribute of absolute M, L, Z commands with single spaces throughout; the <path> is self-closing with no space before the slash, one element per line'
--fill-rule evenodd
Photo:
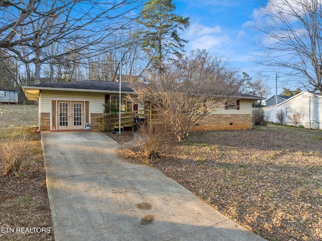
<path fill-rule="evenodd" d="M 40 95 L 42 113 L 50 113 L 50 100 L 86 100 L 90 101 L 91 113 L 103 113 L 105 95 L 102 93 L 42 91 Z"/>

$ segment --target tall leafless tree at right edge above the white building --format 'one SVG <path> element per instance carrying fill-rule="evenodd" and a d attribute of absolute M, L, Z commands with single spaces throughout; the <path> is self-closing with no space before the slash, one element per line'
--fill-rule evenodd
<path fill-rule="evenodd" d="M 322 92 L 321 0 L 271 0 L 260 12 L 262 63 L 310 92 Z"/>

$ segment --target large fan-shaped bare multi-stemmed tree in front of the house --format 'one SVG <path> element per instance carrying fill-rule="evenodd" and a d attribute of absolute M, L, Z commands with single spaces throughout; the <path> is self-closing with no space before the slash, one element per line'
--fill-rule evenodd
<path fill-rule="evenodd" d="M 147 101 L 179 141 L 185 141 L 195 125 L 226 102 L 238 98 L 241 81 L 227 62 L 205 50 L 165 65 L 162 74 L 147 72 L 148 84 L 134 86 L 136 100 Z"/>

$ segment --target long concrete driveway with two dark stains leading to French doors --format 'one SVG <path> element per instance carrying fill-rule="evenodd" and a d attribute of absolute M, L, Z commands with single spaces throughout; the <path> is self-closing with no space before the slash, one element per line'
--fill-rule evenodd
<path fill-rule="evenodd" d="M 42 132 L 55 241 L 264 240 L 97 132 Z"/>

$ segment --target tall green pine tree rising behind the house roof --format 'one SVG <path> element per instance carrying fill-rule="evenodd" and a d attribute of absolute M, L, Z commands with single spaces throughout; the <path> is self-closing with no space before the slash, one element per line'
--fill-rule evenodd
<path fill-rule="evenodd" d="M 188 42 L 178 31 L 189 27 L 189 17 L 174 14 L 175 9 L 172 0 L 150 0 L 141 11 L 142 18 L 137 20 L 142 25 L 141 47 L 151 58 L 152 68 L 157 70 L 162 70 L 164 60 L 181 56 Z"/>

